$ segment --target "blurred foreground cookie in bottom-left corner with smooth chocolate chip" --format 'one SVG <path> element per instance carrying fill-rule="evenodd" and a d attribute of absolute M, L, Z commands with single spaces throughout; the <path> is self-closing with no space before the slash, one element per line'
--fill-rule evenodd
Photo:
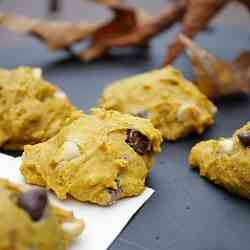
<path fill-rule="evenodd" d="M 84 228 L 73 214 L 51 206 L 44 189 L 24 191 L 0 179 L 0 249 L 64 250 Z"/>

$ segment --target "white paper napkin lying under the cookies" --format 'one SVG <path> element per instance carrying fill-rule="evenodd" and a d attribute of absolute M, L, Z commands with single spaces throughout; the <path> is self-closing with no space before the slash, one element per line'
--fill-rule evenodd
<path fill-rule="evenodd" d="M 0 178 L 23 184 L 20 164 L 20 157 L 14 158 L 0 153 Z M 50 195 L 50 198 L 55 205 L 73 211 L 86 224 L 83 234 L 72 245 L 71 250 L 105 250 L 153 193 L 153 189 L 146 188 L 140 196 L 118 201 L 111 207 L 98 207 L 77 201 L 62 202 L 54 195 Z"/>

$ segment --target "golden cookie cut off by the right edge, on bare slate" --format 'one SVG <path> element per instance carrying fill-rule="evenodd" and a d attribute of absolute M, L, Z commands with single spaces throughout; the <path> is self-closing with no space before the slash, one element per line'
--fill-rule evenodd
<path fill-rule="evenodd" d="M 189 161 L 202 176 L 250 199 L 250 123 L 230 138 L 198 143 L 192 148 Z"/>

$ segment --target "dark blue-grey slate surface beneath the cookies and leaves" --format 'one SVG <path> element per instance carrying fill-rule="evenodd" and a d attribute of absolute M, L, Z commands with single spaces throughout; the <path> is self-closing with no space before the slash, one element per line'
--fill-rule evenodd
<path fill-rule="evenodd" d="M 64 53 L 48 53 L 43 45 L 30 40 L 26 47 L 0 49 L 0 67 L 42 67 L 47 79 L 60 85 L 74 104 L 87 111 L 96 105 L 104 86 L 113 80 L 159 67 L 173 33 L 156 39 L 147 55 L 114 56 L 85 65 L 67 59 Z M 212 34 L 204 33 L 198 41 L 223 58 L 233 58 L 240 50 L 249 49 L 250 31 L 215 27 Z M 192 77 L 185 57 L 176 65 L 187 77 Z M 190 136 L 163 146 L 149 181 L 156 193 L 111 250 L 249 249 L 249 202 L 211 185 L 188 168 L 192 145 L 202 139 L 229 136 L 249 120 L 249 98 L 229 98 L 217 104 L 216 125 L 203 136 Z"/>

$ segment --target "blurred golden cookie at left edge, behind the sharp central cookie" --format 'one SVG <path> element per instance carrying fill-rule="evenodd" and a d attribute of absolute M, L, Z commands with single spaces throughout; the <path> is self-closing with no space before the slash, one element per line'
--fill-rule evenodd
<path fill-rule="evenodd" d="M 62 90 L 42 79 L 41 69 L 0 69 L 0 148 L 46 141 L 74 110 Z"/>

